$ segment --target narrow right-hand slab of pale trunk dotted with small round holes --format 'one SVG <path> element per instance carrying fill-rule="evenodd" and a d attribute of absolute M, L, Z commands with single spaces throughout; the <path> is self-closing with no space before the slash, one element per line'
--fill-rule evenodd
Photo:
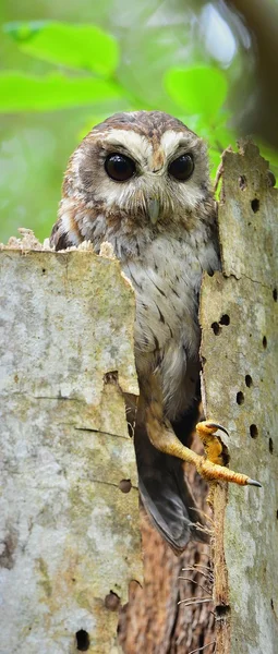
<path fill-rule="evenodd" d="M 278 643 L 278 192 L 267 170 L 251 143 L 225 154 L 223 274 L 206 278 L 201 302 L 206 413 L 230 433 L 230 467 L 263 484 L 215 495 L 217 654 Z"/>

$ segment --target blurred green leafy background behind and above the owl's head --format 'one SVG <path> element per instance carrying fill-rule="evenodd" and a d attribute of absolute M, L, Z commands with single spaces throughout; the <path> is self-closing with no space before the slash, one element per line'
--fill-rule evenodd
<path fill-rule="evenodd" d="M 2 240 L 17 227 L 49 235 L 70 154 L 114 111 L 173 113 L 208 141 L 211 174 L 222 149 L 235 146 L 226 105 L 242 52 L 211 3 L 209 19 L 180 0 L 82 0 L 82 24 L 63 0 L 56 8 L 45 0 L 39 16 L 38 4 L 27 1 L 32 21 L 14 21 L 11 4 L 2 15 L 0 70 Z M 222 53 L 208 38 L 211 24 L 226 29 Z"/>

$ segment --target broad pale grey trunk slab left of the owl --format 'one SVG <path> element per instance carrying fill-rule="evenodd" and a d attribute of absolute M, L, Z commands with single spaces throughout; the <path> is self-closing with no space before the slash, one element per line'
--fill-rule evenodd
<path fill-rule="evenodd" d="M 0 652 L 117 653 L 142 574 L 134 294 L 89 251 L 2 249 L 0 274 Z"/>

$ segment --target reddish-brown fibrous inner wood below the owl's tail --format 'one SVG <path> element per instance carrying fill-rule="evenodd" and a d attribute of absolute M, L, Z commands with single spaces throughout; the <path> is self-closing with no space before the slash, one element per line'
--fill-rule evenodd
<path fill-rule="evenodd" d="M 201 451 L 200 440 L 195 439 L 193 447 Z M 206 484 L 192 465 L 186 465 L 186 477 L 197 505 L 207 510 Z M 215 635 L 210 576 L 209 570 L 198 567 L 209 565 L 209 545 L 192 541 L 177 557 L 145 513 L 141 522 L 144 585 L 132 584 L 129 604 L 121 611 L 124 654 L 189 654 L 205 644 L 205 652 L 211 654 Z M 204 602 L 207 595 L 210 602 Z"/>

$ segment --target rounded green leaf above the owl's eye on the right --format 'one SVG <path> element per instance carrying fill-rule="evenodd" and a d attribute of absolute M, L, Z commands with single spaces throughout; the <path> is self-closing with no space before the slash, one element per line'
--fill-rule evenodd
<path fill-rule="evenodd" d="M 208 65 L 170 69 L 165 76 L 165 86 L 186 113 L 200 114 L 209 123 L 216 118 L 228 92 L 222 71 Z"/>

